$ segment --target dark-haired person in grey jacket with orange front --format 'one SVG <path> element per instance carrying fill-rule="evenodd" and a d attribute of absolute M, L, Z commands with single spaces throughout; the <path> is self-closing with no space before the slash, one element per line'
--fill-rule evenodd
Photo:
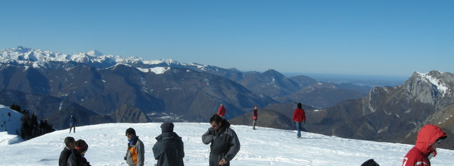
<path fill-rule="evenodd" d="M 130 166 L 143 166 L 145 163 L 145 147 L 139 137 L 135 135 L 133 128 L 126 129 L 126 138 L 128 138 L 128 150 L 124 160 Z"/>

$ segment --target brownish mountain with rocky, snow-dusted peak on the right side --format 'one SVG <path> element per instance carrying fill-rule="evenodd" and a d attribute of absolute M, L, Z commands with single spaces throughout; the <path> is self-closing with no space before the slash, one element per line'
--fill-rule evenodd
<path fill-rule="evenodd" d="M 413 144 L 419 129 L 436 124 L 448 136 L 454 135 L 454 74 L 431 71 L 415 72 L 403 85 L 375 87 L 362 98 L 345 100 L 333 107 L 306 110 L 309 132 L 372 141 Z M 280 124 L 279 129 L 294 128 L 292 112 L 297 103 L 273 104 L 264 114 L 282 114 L 265 119 Z M 285 118 L 287 116 L 287 118 Z M 250 113 L 232 119 L 233 124 L 252 124 Z M 260 114 L 259 114 L 260 117 Z M 283 118 L 282 118 L 283 117 Z M 443 148 L 454 148 L 453 138 L 443 141 Z"/>

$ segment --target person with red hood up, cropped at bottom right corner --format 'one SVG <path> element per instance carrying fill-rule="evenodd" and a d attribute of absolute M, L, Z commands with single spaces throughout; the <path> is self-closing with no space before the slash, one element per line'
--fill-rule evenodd
<path fill-rule="evenodd" d="M 446 137 L 448 135 L 438 126 L 433 124 L 423 126 L 416 138 L 416 145 L 406 153 L 402 166 L 430 166 L 429 159 L 437 155 L 436 148 Z"/>

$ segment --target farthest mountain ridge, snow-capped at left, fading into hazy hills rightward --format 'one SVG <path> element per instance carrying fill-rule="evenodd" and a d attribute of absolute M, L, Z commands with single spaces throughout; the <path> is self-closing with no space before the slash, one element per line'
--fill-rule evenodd
<path fill-rule="evenodd" d="M 138 57 L 104 55 L 97 50 L 62 54 L 19 46 L 0 50 L 0 64 L 31 66 L 35 69 L 71 69 L 78 65 L 86 65 L 94 69 L 109 69 L 118 65 L 125 65 L 145 73 L 157 74 L 164 73 L 169 69 L 192 69 L 223 76 L 236 81 L 253 93 L 270 96 L 279 100 L 279 102 L 304 102 L 313 107 L 329 107 L 342 100 L 362 97 L 365 95 L 364 91 L 370 89 L 353 84 L 339 86 L 338 88 L 323 88 L 317 86 L 317 81 L 312 78 L 306 76 L 287 78 L 282 73 L 272 69 L 263 73 L 256 71 L 241 72 L 237 69 L 223 69 L 196 63 L 184 64 L 172 59 L 148 61 Z M 316 85 L 311 86 L 315 91 L 300 91 L 309 85 Z M 314 95 L 317 95 L 317 97 L 314 97 L 317 100 L 313 99 Z M 325 98 L 326 96 L 330 98 Z"/>

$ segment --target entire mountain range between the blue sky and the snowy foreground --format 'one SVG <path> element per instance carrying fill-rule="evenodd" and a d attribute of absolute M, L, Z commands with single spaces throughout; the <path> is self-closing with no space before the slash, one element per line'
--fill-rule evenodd
<path fill-rule="evenodd" d="M 206 121 L 220 103 L 233 124 L 251 124 L 250 111 L 258 105 L 263 110 L 259 126 L 292 129 L 293 109 L 302 102 L 307 131 L 411 143 L 428 122 L 453 133 L 448 125 L 453 80 L 451 73 L 415 72 L 404 85 L 371 88 L 307 76 L 287 78 L 272 69 L 242 72 L 99 51 L 0 50 L 0 103 L 21 105 L 57 129 L 67 127 L 70 114 L 79 117 L 80 125 Z"/>

